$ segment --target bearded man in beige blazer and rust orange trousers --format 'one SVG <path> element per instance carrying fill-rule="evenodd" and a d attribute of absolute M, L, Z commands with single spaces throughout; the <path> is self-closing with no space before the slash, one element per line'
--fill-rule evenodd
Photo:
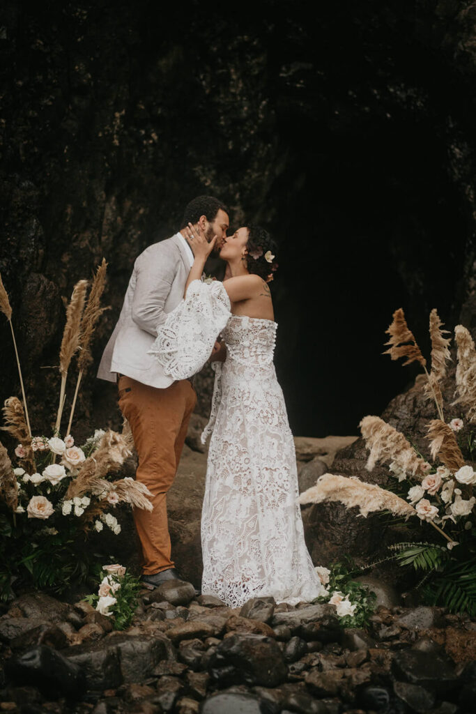
<path fill-rule="evenodd" d="M 181 230 L 148 246 L 136 259 L 118 323 L 104 350 L 98 378 L 118 383 L 119 408 L 131 425 L 138 454 L 137 481 L 152 493 L 153 511 L 134 508 L 143 555 L 142 582 L 149 589 L 182 579 L 171 560 L 166 494 L 176 475 L 188 421 L 196 403 L 191 381 L 173 381 L 147 354 L 157 326 L 183 298 L 193 253 L 184 228 L 193 223 L 208 242 L 221 246 L 228 229 L 228 208 L 212 196 L 186 206 Z"/>

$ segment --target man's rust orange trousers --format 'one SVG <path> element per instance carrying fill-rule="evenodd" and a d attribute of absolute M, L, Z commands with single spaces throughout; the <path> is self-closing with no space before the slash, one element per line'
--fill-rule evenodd
<path fill-rule="evenodd" d="M 167 522 L 167 491 L 172 486 L 196 393 L 188 379 L 158 389 L 121 376 L 119 408 L 131 425 L 138 455 L 137 481 L 152 493 L 153 511 L 134 508 L 141 540 L 143 573 L 173 567 Z"/>

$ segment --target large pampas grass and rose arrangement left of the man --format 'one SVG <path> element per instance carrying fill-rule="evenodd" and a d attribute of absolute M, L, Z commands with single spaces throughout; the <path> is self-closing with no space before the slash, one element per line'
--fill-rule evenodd
<path fill-rule="evenodd" d="M 81 446 L 76 446 L 71 436 L 81 378 L 92 359 L 91 338 L 104 309 L 100 298 L 105 278 L 103 261 L 93 279 L 86 307 L 87 281 L 79 281 L 66 310 L 59 354 L 59 409 L 51 436 L 33 436 L 31 432 L 11 306 L 0 278 L 0 309 L 11 326 L 23 396 L 23 402 L 10 397 L 3 408 L 3 431 L 16 441 L 16 446 L 10 458 L 0 443 L 0 533 L 4 535 L 0 543 L 1 598 L 11 595 L 11 583 L 17 578 L 56 590 L 64 590 L 71 578 L 86 578 L 93 559 L 86 548 L 88 535 L 104 528 L 116 535 L 121 532 L 111 511 L 119 503 L 152 510 L 150 493 L 142 483 L 133 478 L 117 478 L 133 447 L 127 423 L 122 433 L 96 430 Z M 66 378 L 77 352 L 79 373 L 69 423 L 61 438 Z"/>

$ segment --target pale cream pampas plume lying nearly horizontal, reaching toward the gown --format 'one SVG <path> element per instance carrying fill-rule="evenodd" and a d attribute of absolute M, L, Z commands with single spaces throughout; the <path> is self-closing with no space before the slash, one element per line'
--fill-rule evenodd
<path fill-rule="evenodd" d="M 403 501 L 391 491 L 365 483 L 355 476 L 338 476 L 335 473 L 325 473 L 318 478 L 315 486 L 301 493 L 299 503 L 322 503 L 322 501 L 339 501 L 345 508 L 358 507 L 360 516 L 366 518 L 373 511 L 390 511 L 394 516 L 414 516 L 413 506 Z"/>

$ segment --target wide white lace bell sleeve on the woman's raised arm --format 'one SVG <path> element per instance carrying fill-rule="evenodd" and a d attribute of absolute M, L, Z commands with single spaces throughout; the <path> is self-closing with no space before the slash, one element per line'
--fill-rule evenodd
<path fill-rule="evenodd" d="M 230 316 L 230 298 L 222 283 L 194 280 L 186 298 L 157 327 L 157 339 L 148 354 L 173 379 L 187 379 L 206 363 Z"/>

